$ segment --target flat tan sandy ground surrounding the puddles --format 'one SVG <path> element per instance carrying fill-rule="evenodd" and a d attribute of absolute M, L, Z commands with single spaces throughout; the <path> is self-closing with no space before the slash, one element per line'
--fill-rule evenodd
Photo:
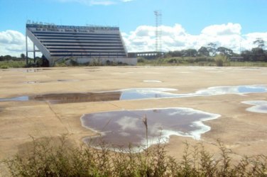
<path fill-rule="evenodd" d="M 175 93 L 193 93 L 210 86 L 267 84 L 267 68 L 254 67 L 72 67 L 0 70 L 0 98 L 34 96 L 44 93 L 80 93 L 129 88 L 171 88 Z M 58 81 L 64 80 L 64 81 Z M 68 81 L 67 81 L 68 80 Z M 160 83 L 143 82 L 159 80 Z M 36 82 L 36 83 L 35 83 Z M 202 141 L 172 136 L 167 150 L 179 157 L 184 145 L 203 142 L 218 152 L 217 139 L 243 155 L 267 154 L 266 114 L 251 113 L 242 101 L 267 101 L 267 93 L 195 96 L 133 101 L 50 104 L 38 101 L 0 102 L 0 160 L 16 154 L 33 137 L 67 134 L 77 144 L 94 135 L 82 127 L 86 113 L 108 110 L 187 107 L 222 115 L 205 122 L 212 129 Z"/>

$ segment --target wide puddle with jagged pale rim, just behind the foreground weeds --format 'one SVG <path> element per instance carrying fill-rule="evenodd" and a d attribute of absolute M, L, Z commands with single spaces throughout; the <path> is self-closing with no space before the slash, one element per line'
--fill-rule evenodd
<path fill-rule="evenodd" d="M 91 113 L 81 117 L 82 126 L 87 127 L 101 136 L 87 137 L 85 142 L 97 147 L 106 142 L 111 147 L 127 148 L 129 144 L 139 147 L 146 144 L 146 127 L 148 124 L 149 146 L 167 142 L 170 135 L 192 137 L 200 136 L 209 131 L 210 127 L 203 121 L 219 118 L 220 115 L 206 113 L 192 108 L 157 108 L 147 110 L 119 110 L 102 113 Z"/>

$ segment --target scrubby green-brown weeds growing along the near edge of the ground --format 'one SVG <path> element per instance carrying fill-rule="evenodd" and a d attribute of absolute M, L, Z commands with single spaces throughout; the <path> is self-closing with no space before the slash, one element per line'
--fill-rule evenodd
<path fill-rule="evenodd" d="M 233 164 L 230 149 L 219 141 L 220 157 L 215 158 L 201 143 L 190 147 L 185 142 L 180 161 L 167 155 L 165 144 L 139 153 L 133 152 L 131 144 L 127 153 L 113 152 L 104 143 L 99 147 L 74 147 L 65 136 L 58 141 L 33 138 L 26 153 L 5 163 L 11 176 L 266 176 L 266 156 L 244 156 Z"/>

